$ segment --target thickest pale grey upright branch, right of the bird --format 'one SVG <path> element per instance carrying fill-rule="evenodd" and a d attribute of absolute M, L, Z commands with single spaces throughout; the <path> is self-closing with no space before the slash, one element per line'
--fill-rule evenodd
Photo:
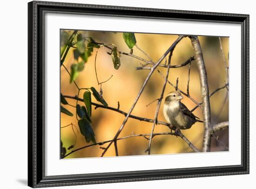
<path fill-rule="evenodd" d="M 202 56 L 202 49 L 197 36 L 191 36 L 191 43 L 194 48 L 195 60 L 199 72 L 200 83 L 201 83 L 201 96 L 202 96 L 202 113 L 204 117 L 204 136 L 202 151 L 210 151 L 211 144 L 211 112 L 210 112 L 210 101 L 209 101 L 209 87 L 207 81 L 207 73 L 205 64 Z"/>

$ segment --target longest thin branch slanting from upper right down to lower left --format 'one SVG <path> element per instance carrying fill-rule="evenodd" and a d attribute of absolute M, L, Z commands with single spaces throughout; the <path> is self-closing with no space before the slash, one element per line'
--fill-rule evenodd
<path fill-rule="evenodd" d="M 168 50 L 162 55 L 162 57 L 155 63 L 155 65 L 152 67 L 151 71 L 148 73 L 148 77 L 145 79 L 143 85 L 141 86 L 141 90 L 139 91 L 137 97 L 135 98 L 135 101 L 132 105 L 132 107 L 130 108 L 130 110 L 127 113 L 127 116 L 125 117 L 125 119 L 123 120 L 123 123 L 121 124 L 119 130 L 116 132 L 115 137 L 113 138 L 113 140 L 108 144 L 108 146 L 106 147 L 106 149 L 103 151 L 101 156 L 104 156 L 104 154 L 107 152 L 107 150 L 109 149 L 110 145 L 113 143 L 113 141 L 115 141 L 117 139 L 117 137 L 119 136 L 119 134 L 121 133 L 123 127 L 125 126 L 128 117 L 130 116 L 130 114 L 132 113 L 136 103 L 138 102 L 142 91 L 144 90 L 146 84 L 148 83 L 149 78 L 151 77 L 151 75 L 153 74 L 153 72 L 155 71 L 156 67 L 162 62 L 162 60 L 167 56 L 167 54 L 172 51 L 175 46 L 184 38 L 184 35 L 181 35 L 178 37 L 178 39 L 175 40 L 175 42 L 168 48 Z"/>

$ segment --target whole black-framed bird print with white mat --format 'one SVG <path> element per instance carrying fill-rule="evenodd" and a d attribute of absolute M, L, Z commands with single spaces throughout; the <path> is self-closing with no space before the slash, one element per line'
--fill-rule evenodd
<path fill-rule="evenodd" d="M 28 3 L 28 185 L 249 173 L 249 15 Z"/>

